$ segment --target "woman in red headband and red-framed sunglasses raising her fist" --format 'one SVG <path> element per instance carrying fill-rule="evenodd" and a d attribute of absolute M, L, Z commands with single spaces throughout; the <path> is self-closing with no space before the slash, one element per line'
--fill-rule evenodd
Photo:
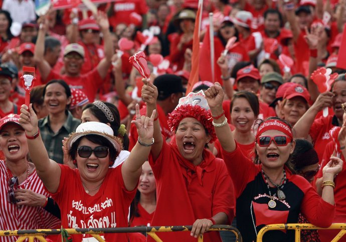
<path fill-rule="evenodd" d="M 323 169 L 322 196 L 303 177 L 293 175 L 286 166 L 294 150 L 292 129 L 279 118 L 260 123 L 256 134 L 254 161 L 244 156 L 223 114 L 224 92 L 219 83 L 206 91 L 215 116 L 213 125 L 223 148 L 226 166 L 237 198 L 237 227 L 243 241 L 254 241 L 267 224 L 296 223 L 301 212 L 309 222 L 328 227 L 335 213 L 334 176 L 342 170 L 342 161 L 331 157 Z M 269 231 L 263 241 L 293 241 L 294 231 Z"/>

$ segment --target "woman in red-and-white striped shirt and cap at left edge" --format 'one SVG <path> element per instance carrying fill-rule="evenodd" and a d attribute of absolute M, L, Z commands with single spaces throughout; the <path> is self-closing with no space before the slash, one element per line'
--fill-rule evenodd
<path fill-rule="evenodd" d="M 27 160 L 27 138 L 18 114 L 0 120 L 0 147 L 5 155 L 0 160 L 0 229 L 58 228 L 60 219 L 51 214 L 54 201 L 44 190 L 35 165 Z M 55 209 L 60 216 L 59 208 Z M 2 241 L 15 240 L 2 237 Z"/>

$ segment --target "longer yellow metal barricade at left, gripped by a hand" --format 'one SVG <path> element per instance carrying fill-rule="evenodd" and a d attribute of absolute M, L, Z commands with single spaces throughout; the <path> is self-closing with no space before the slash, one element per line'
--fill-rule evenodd
<path fill-rule="evenodd" d="M 157 232 L 178 232 L 191 231 L 192 226 L 148 226 L 148 227 L 121 227 L 121 228 L 67 228 L 64 229 L 71 234 L 90 234 L 99 242 L 106 242 L 101 236 L 101 233 L 132 233 L 141 232 L 147 233 L 157 242 L 163 242 Z M 242 237 L 239 230 L 230 225 L 213 225 L 209 231 L 231 231 L 236 236 L 236 241 L 241 242 Z M 22 230 L 0 230 L 0 236 L 19 236 L 17 242 L 22 242 L 26 238 L 29 242 L 34 242 L 37 238 L 41 242 L 47 242 L 45 235 L 60 234 L 62 229 L 22 229 Z M 199 242 L 203 242 L 203 234 L 198 238 Z"/>

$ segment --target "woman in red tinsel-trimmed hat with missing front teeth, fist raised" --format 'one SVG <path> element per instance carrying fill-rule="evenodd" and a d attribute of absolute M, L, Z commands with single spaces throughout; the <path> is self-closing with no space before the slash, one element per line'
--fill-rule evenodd
<path fill-rule="evenodd" d="M 164 142 L 157 118 L 154 121 L 149 164 L 155 175 L 157 203 L 151 225 L 193 224 L 191 234 L 160 234 L 163 241 L 196 241 L 213 224 L 233 220 L 232 181 L 223 160 L 205 148 L 216 137 L 206 99 L 196 97 L 203 99 L 198 105 L 184 104 L 182 98 L 169 114 L 168 126 L 175 132 L 170 144 Z M 144 85 L 142 98 L 151 113 L 156 108 L 157 88 Z M 204 241 L 221 242 L 221 238 L 218 232 L 209 232 Z"/>

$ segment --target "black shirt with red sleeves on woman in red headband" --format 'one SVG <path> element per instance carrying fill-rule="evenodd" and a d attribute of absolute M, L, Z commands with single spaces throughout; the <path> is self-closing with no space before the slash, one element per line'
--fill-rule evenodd
<path fill-rule="evenodd" d="M 267 224 L 296 223 L 301 212 L 316 226 L 328 227 L 335 207 L 325 202 L 303 177 L 293 175 L 287 167 L 284 200 L 274 197 L 276 206 L 269 208 L 270 195 L 262 175 L 262 165 L 255 165 L 239 147 L 233 152 L 222 150 L 237 198 L 237 228 L 244 241 L 256 240 L 257 232 Z M 271 194 L 277 189 L 272 188 Z M 293 241 L 294 231 L 269 231 L 264 241 Z"/>

